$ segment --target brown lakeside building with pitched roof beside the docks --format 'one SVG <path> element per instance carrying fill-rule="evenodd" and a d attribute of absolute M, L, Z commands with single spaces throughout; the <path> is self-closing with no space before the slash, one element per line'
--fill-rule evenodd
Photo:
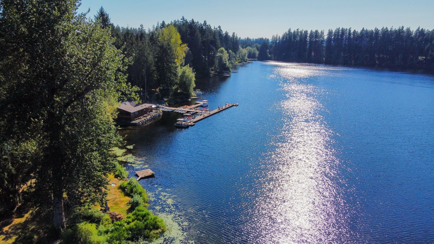
<path fill-rule="evenodd" d="M 137 120 L 139 117 L 151 114 L 157 109 L 155 104 L 136 104 L 133 101 L 122 102 L 121 106 L 118 107 L 118 119 Z"/>

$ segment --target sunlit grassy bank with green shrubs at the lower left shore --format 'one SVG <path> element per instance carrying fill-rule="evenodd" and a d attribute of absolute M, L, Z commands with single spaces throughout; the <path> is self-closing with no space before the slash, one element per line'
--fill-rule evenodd
<path fill-rule="evenodd" d="M 120 161 L 128 161 L 126 150 L 115 150 Z M 124 156 L 125 155 L 125 156 Z M 123 160 L 122 160 L 123 159 Z M 126 244 L 153 240 L 166 231 L 161 218 L 148 207 L 145 189 L 135 178 L 128 181 L 128 172 L 119 165 L 108 176 L 107 199 L 110 211 L 101 206 L 75 209 L 67 218 L 61 238 L 54 235 L 52 213 L 24 201 L 15 213 L 0 219 L 0 244 L 6 243 L 68 243 Z M 116 186 L 111 184 L 116 183 Z"/>

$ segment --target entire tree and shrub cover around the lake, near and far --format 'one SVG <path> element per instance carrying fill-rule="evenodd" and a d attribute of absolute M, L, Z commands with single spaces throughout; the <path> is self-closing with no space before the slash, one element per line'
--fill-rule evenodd
<path fill-rule="evenodd" d="M 247 59 L 434 70 L 434 30 L 289 29 L 242 39 L 184 17 L 119 27 L 102 7 L 89 18 L 77 4 L 0 1 L 0 214 L 28 202 L 49 213 L 57 236 L 122 243 L 166 229 L 135 179 L 121 185 L 131 197 L 123 218 L 91 209 L 106 202 L 110 174 L 128 177 L 112 152 L 125 146 L 113 122 L 121 101 L 190 98 L 196 78 Z"/>

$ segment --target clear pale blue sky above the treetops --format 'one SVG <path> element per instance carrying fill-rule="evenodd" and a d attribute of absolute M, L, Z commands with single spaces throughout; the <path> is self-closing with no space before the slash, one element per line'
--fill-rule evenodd
<path fill-rule="evenodd" d="M 82 0 L 89 16 L 103 6 L 112 23 L 145 29 L 164 20 L 207 20 L 241 37 L 281 35 L 287 29 L 418 26 L 434 29 L 434 0 Z"/>

